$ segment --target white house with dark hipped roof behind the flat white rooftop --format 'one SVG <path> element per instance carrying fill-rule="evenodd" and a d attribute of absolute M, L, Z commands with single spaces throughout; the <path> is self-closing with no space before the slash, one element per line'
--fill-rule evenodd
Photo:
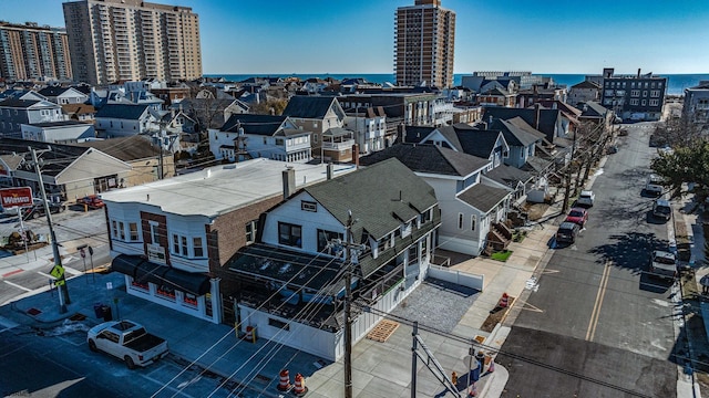
<path fill-rule="evenodd" d="M 287 116 L 236 114 L 222 128 L 209 129 L 209 150 L 228 161 L 265 157 L 306 163 L 312 158 L 310 136 Z"/>

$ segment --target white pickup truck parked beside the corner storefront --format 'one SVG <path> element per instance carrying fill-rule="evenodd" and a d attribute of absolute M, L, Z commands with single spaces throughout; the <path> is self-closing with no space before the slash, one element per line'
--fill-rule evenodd
<path fill-rule="evenodd" d="M 89 349 L 102 350 L 125 362 L 129 369 L 147 366 L 167 355 L 167 342 L 152 335 L 132 321 L 104 322 L 92 327 L 86 336 Z"/>

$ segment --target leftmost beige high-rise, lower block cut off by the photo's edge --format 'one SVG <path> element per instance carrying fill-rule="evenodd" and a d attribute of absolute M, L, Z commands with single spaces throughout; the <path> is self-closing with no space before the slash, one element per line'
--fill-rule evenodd
<path fill-rule="evenodd" d="M 0 77 L 71 80 L 66 31 L 34 22 L 0 21 Z"/>

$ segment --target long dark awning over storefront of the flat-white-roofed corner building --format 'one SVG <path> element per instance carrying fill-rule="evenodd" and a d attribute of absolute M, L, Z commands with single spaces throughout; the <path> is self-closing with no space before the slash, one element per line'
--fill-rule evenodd
<path fill-rule="evenodd" d="M 146 261 L 140 255 L 120 254 L 111 263 L 113 271 L 126 274 L 138 283 L 154 283 L 194 295 L 209 293 L 209 276 L 175 270 L 167 265 Z"/>

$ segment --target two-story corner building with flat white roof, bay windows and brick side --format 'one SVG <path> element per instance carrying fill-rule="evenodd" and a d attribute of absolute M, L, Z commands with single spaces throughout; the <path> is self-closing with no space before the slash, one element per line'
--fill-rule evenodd
<path fill-rule="evenodd" d="M 261 234 L 261 213 L 284 197 L 352 167 L 265 158 L 206 168 L 102 195 L 112 269 L 129 294 L 234 325 L 243 287 L 227 265 Z M 284 189 L 284 174 L 292 175 Z"/>

